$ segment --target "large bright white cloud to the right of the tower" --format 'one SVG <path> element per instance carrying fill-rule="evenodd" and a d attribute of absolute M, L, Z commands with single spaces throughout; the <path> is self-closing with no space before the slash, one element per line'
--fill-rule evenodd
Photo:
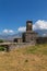
<path fill-rule="evenodd" d="M 47 21 L 38 20 L 34 25 L 33 29 L 47 29 Z"/>

